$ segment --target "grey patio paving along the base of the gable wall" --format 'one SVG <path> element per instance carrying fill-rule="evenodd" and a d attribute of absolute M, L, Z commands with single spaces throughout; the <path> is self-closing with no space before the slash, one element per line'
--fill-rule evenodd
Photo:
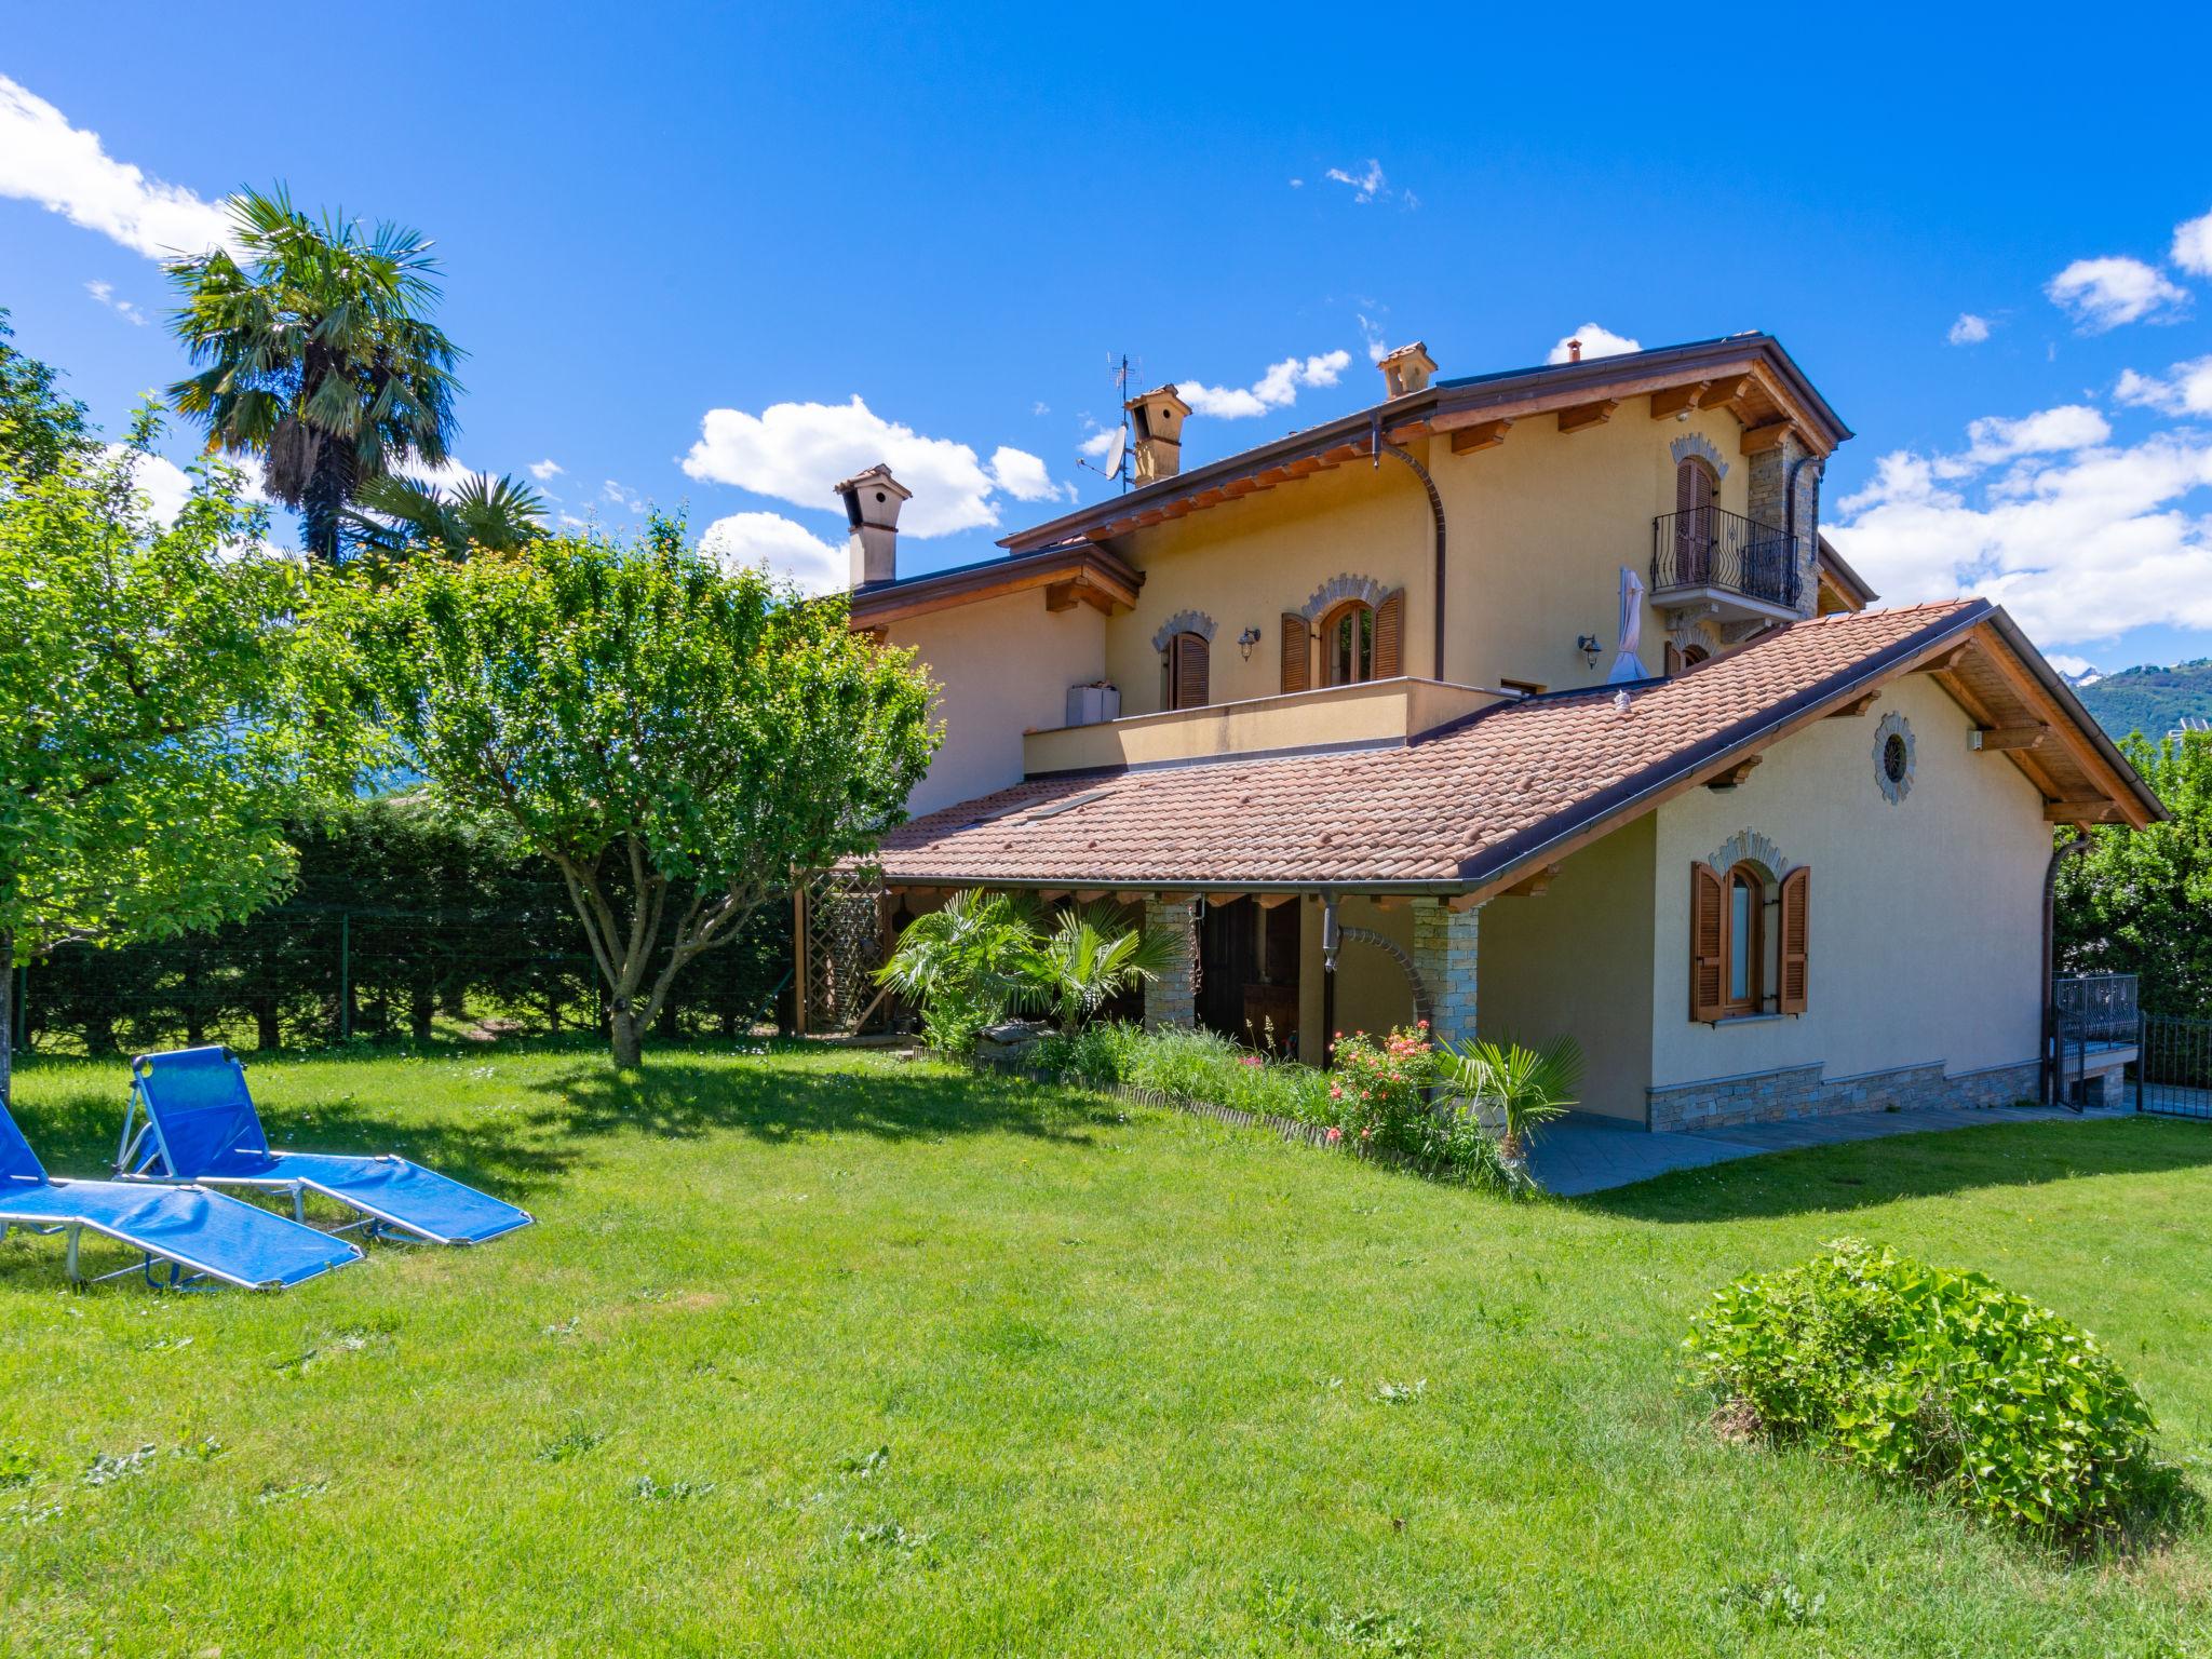
<path fill-rule="evenodd" d="M 1590 1113 L 1568 1113 L 1546 1124 L 1528 1148 L 1528 1170 L 1546 1192 L 1577 1197 L 1650 1181 L 1670 1170 L 1699 1170 L 1761 1152 L 1794 1152 L 1801 1146 L 1878 1141 L 1889 1135 L 1927 1135 L 1947 1128 L 1991 1124 L 2037 1124 L 2044 1119 L 2128 1117 L 2121 1108 L 2070 1113 L 2064 1106 L 1933 1106 L 1909 1113 L 1832 1113 L 1792 1117 L 1781 1124 L 1732 1124 L 1728 1128 L 1646 1130 L 1641 1124 Z"/>

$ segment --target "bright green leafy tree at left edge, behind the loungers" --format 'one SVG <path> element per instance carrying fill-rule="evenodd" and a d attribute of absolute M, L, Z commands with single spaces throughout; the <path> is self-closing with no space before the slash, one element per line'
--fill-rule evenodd
<path fill-rule="evenodd" d="M 314 582 L 261 551 L 237 469 L 201 471 L 161 529 L 133 478 L 155 416 L 115 456 L 42 442 L 66 427 L 0 456 L 7 967 L 268 902 L 292 876 L 285 812 L 349 752 L 301 675 Z M 7 1013 L 0 989 L 0 1029 Z"/>

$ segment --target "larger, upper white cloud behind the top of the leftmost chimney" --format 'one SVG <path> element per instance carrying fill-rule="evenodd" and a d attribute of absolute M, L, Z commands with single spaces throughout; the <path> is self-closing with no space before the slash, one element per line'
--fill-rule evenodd
<path fill-rule="evenodd" d="M 969 445 L 925 438 L 885 420 L 858 396 L 852 403 L 772 403 L 761 414 L 708 409 L 684 471 L 794 507 L 836 511 L 830 487 L 878 460 L 914 491 L 900 511 L 902 533 L 931 538 L 998 524 L 993 491 L 1000 480 Z"/>

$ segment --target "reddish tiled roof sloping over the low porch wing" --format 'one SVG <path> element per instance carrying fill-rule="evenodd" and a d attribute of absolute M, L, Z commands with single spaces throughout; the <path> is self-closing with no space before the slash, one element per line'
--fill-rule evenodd
<path fill-rule="evenodd" d="M 931 812 L 894 883 L 1467 887 L 1991 615 L 1986 599 L 1796 622 L 1686 675 L 1535 697 L 1402 748 L 1060 774 Z"/>

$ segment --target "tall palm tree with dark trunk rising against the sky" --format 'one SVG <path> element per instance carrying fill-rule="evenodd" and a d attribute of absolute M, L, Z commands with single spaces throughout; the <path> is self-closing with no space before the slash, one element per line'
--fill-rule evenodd
<path fill-rule="evenodd" d="M 416 230 L 314 223 L 283 186 L 243 192 L 230 215 L 234 254 L 168 265 L 184 296 L 173 325 L 206 365 L 168 396 L 210 451 L 261 456 L 307 551 L 336 562 L 363 484 L 447 458 L 460 352 L 422 316 L 438 261 Z"/>

